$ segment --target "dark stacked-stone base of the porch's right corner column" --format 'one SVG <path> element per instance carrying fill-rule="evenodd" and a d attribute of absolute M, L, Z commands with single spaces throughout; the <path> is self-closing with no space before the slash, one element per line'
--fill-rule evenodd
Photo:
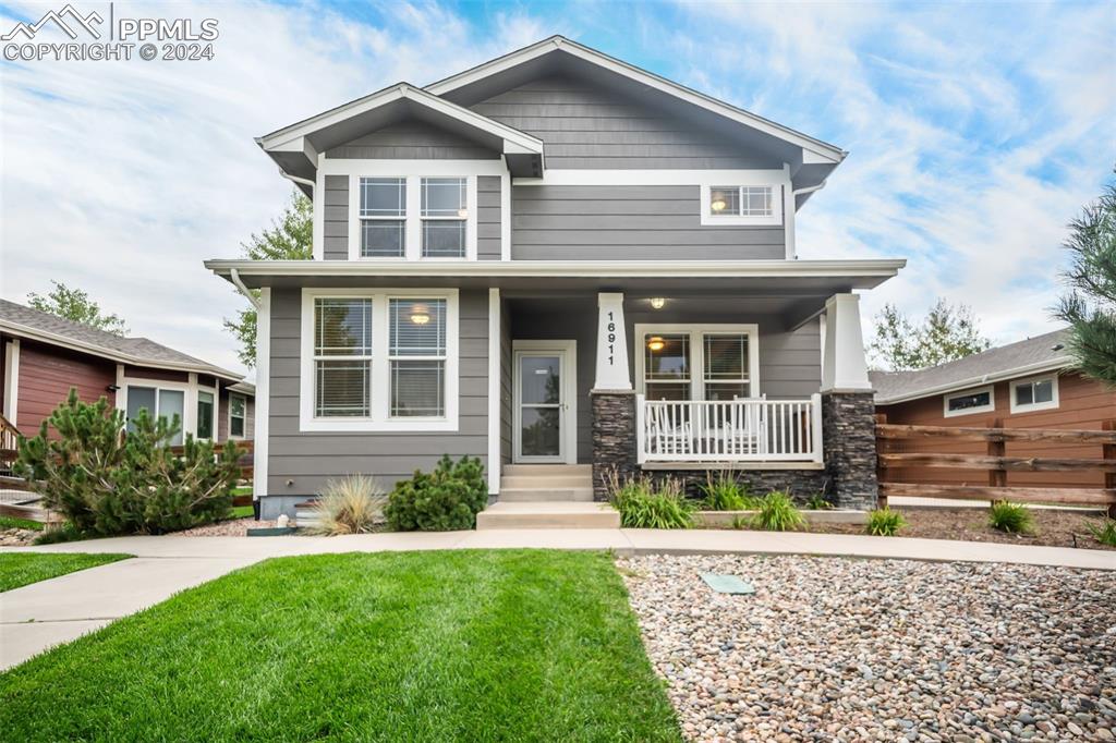
<path fill-rule="evenodd" d="M 876 508 L 876 403 L 870 392 L 821 395 L 821 441 L 830 500 L 844 509 Z"/>

